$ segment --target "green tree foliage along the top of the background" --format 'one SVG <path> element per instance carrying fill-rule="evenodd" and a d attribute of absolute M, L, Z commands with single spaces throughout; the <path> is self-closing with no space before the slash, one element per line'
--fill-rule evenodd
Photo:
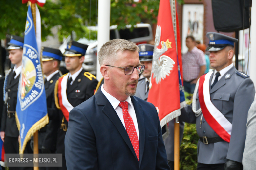
<path fill-rule="evenodd" d="M 183 0 L 177 0 L 183 3 Z M 111 0 L 110 25 L 135 25 L 145 19 L 157 22 L 159 0 Z M 52 35 L 51 28 L 58 26 L 60 40 L 75 31 L 78 38 L 96 39 L 96 32 L 86 26 L 97 25 L 98 0 L 47 0 L 44 7 L 39 7 L 42 21 L 42 40 Z M 21 0 L 0 1 L 0 39 L 7 34 L 21 35 L 25 29 L 27 4 Z M 90 34 L 89 34 L 90 32 Z M 90 37 L 89 37 L 90 36 Z"/>

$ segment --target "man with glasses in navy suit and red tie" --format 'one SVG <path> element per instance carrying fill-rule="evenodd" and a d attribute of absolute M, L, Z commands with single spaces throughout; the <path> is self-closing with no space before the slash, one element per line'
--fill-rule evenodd
<path fill-rule="evenodd" d="M 99 52 L 104 84 L 70 112 L 68 169 L 169 170 L 155 106 L 137 97 L 139 48 L 114 39 Z"/>

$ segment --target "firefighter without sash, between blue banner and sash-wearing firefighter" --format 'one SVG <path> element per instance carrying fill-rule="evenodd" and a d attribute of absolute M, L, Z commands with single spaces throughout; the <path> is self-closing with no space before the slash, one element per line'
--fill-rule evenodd
<path fill-rule="evenodd" d="M 58 109 L 54 100 L 55 83 L 61 75 L 60 61 L 63 55 L 59 49 L 42 47 L 42 68 L 46 76 L 44 79 L 49 123 L 38 131 L 39 153 L 55 153 L 58 128 Z M 42 169 L 56 170 L 57 167 L 40 167 Z"/>

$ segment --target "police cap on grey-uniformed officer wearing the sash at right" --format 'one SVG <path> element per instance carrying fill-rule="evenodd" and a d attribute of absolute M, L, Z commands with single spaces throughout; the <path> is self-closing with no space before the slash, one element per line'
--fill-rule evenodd
<path fill-rule="evenodd" d="M 228 45 L 234 47 L 234 43 L 238 42 L 236 38 L 216 32 L 208 32 L 206 36 L 210 39 L 210 42 L 205 51 L 220 51 Z"/>

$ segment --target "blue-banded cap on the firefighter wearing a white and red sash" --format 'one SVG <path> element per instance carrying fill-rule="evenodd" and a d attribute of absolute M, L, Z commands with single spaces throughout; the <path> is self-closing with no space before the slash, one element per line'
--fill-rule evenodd
<path fill-rule="evenodd" d="M 88 45 L 81 44 L 77 41 L 71 40 L 67 44 L 66 51 L 64 52 L 64 56 L 73 57 L 73 56 L 84 56 L 85 52 L 88 48 Z"/>

